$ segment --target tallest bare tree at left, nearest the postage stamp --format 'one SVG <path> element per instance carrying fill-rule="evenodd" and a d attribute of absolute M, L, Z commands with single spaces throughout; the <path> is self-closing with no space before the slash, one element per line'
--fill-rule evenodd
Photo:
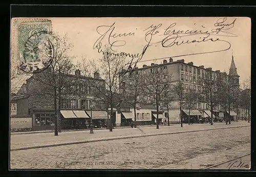
<path fill-rule="evenodd" d="M 48 69 L 32 75 L 31 90 L 28 94 L 44 96 L 47 100 L 53 100 L 55 110 L 55 132 L 61 131 L 61 99 L 65 96 L 72 96 L 77 91 L 77 80 L 70 79 L 70 73 L 74 71 L 72 59 L 68 55 L 73 44 L 68 42 L 67 35 L 59 36 L 51 34 L 38 46 L 41 60 L 50 61 Z"/>

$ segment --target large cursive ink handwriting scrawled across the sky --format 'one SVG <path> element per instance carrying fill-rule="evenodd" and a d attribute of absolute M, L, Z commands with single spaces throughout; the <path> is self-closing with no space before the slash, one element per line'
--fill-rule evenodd
<path fill-rule="evenodd" d="M 216 45 L 224 43 L 226 45 L 221 45 L 224 46 L 221 49 L 209 49 L 206 52 L 168 56 L 166 58 L 222 52 L 228 50 L 231 47 L 231 44 L 227 40 L 221 39 L 221 37 L 237 37 L 236 34 L 228 32 L 228 30 L 234 27 L 235 22 L 236 18 L 233 19 L 231 22 L 230 20 L 228 20 L 227 17 L 219 18 L 213 24 L 214 28 L 210 30 L 205 30 L 206 27 L 204 26 L 201 26 L 199 30 L 177 30 L 176 22 L 171 23 L 165 29 L 162 29 L 162 23 L 152 24 L 151 26 L 143 30 L 145 45 L 141 53 L 129 54 L 121 52 L 118 55 L 138 58 L 139 60 L 141 60 L 146 50 L 153 45 L 160 45 L 164 48 L 171 48 L 173 46 L 191 45 L 195 43 L 216 43 Z M 115 22 L 110 26 L 98 26 L 96 28 L 96 32 L 100 35 L 100 37 L 95 41 L 93 49 L 97 49 L 98 53 L 104 54 L 104 51 L 102 50 L 102 42 L 103 39 L 106 39 L 108 41 L 110 49 L 113 51 L 113 53 L 111 53 L 110 55 L 114 55 L 114 53 L 117 52 L 116 48 L 126 45 L 125 38 L 132 38 L 136 36 L 135 32 L 116 33 L 115 28 Z"/>

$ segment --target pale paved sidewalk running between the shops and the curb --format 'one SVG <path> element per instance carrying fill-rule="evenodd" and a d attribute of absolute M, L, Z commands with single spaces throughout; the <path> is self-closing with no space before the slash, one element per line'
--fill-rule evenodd
<path fill-rule="evenodd" d="M 136 129 L 114 129 L 113 132 L 109 130 L 94 130 L 94 134 L 89 134 L 88 131 L 76 131 L 76 132 L 62 132 L 58 136 L 54 136 L 53 133 L 38 133 L 38 134 L 21 134 L 11 135 L 11 150 L 21 150 L 38 147 L 51 147 L 58 145 L 69 145 L 96 141 L 107 141 L 114 139 L 146 137 L 156 135 L 177 134 L 186 132 L 198 132 L 214 129 L 225 128 L 250 128 L 248 122 L 232 122 L 231 124 L 215 123 L 210 124 L 184 124 L 183 128 L 180 125 L 162 126 L 160 129 L 156 127 L 138 127 Z"/>

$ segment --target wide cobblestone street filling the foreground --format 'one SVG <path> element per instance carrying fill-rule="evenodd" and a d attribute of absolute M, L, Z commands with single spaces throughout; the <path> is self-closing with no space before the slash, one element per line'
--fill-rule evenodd
<path fill-rule="evenodd" d="M 237 124 L 236 124 L 237 123 Z M 56 147 L 33 148 L 11 151 L 11 168 L 23 169 L 201 169 L 215 165 L 228 158 L 250 153 L 250 127 L 231 128 L 239 125 L 216 123 L 217 129 L 180 134 L 157 135 L 130 139 L 62 145 Z M 242 122 L 243 124 L 244 122 Z M 241 124 L 241 122 L 240 122 Z M 248 125 L 248 124 L 247 124 Z M 200 127 L 201 126 L 201 127 Z M 186 130 L 207 130 L 209 125 L 184 125 Z M 212 127 L 210 127 L 212 128 Z M 178 125 L 160 127 L 158 133 L 181 131 Z M 93 136 L 100 138 L 107 130 L 95 131 Z M 119 133 L 118 133 L 119 132 Z M 113 134 L 124 135 L 154 134 L 155 128 L 114 130 Z M 89 132 L 84 137 L 88 138 Z M 71 135 L 81 136 L 82 131 L 61 133 L 62 139 Z M 137 135 L 136 134 L 136 135 Z M 105 135 L 106 136 L 106 135 Z M 50 137 L 50 138 L 49 138 Z M 58 137 L 58 138 L 59 138 Z M 73 136 L 74 137 L 74 136 Z M 24 138 L 24 139 L 23 139 Z M 32 138 L 32 139 L 31 139 Z M 51 141 L 52 133 L 33 135 L 12 135 L 11 143 L 26 144 Z M 60 139 L 60 138 L 59 138 Z M 17 142 L 16 142 L 17 141 Z M 15 144 L 16 143 L 16 144 Z M 222 168 L 224 168 L 222 166 Z"/>

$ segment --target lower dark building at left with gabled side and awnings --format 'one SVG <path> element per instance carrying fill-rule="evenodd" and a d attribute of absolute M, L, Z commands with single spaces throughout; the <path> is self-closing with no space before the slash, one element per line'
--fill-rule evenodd
<path fill-rule="evenodd" d="M 75 85 L 67 86 L 72 87 L 74 92 L 69 95 L 61 95 L 60 103 L 57 103 L 60 106 L 59 116 L 62 116 L 64 120 L 63 128 L 87 128 L 90 124 L 91 114 L 95 126 L 102 125 L 103 127 L 108 119 L 108 114 L 104 104 L 95 97 L 95 92 L 92 91 L 93 88 L 90 85 L 92 82 L 89 82 L 89 80 L 94 81 L 93 83 L 97 83 L 99 88 L 104 91 L 105 82 L 100 79 L 99 73 L 95 72 L 94 78 L 90 78 L 81 75 L 80 71 L 76 70 L 75 74 L 66 74 L 65 77 L 70 82 L 74 80 L 77 82 Z M 32 130 L 53 130 L 55 123 L 54 98 L 48 94 L 53 90 L 48 88 L 46 91 L 46 85 L 36 81 L 34 77 L 28 78 L 11 98 L 11 103 L 15 104 L 16 108 L 15 114 L 12 114 L 11 117 L 32 117 Z M 35 88 L 36 92 L 34 92 Z M 70 88 L 64 86 L 63 92 L 68 89 Z M 50 94 L 53 95 L 53 93 Z"/>

